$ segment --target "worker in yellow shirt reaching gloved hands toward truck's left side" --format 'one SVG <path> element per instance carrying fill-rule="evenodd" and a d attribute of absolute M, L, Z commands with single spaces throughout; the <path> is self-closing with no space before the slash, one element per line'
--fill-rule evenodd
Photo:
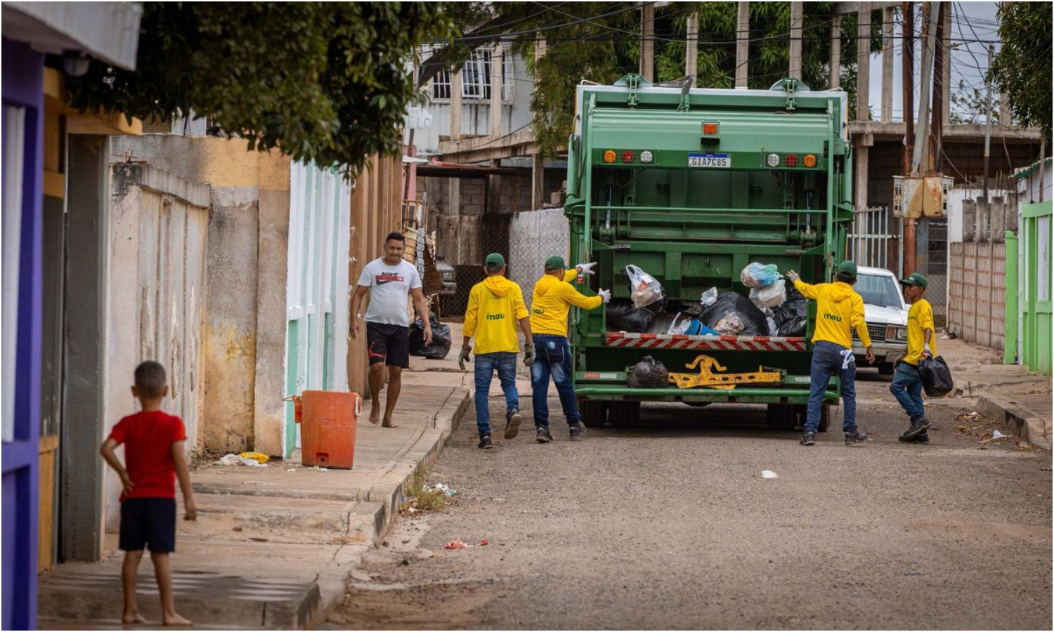
<path fill-rule="evenodd" d="M 610 290 L 601 290 L 597 296 L 585 296 L 569 282 L 575 274 L 593 274 L 597 263 L 582 263 L 567 270 L 567 263 L 560 255 L 545 260 L 545 274 L 534 283 L 530 301 L 530 328 L 534 332 L 534 349 L 538 356 L 530 366 L 531 403 L 534 408 L 534 439 L 539 443 L 552 440 L 549 432 L 549 376 L 552 376 L 560 394 L 560 406 L 564 409 L 570 440 L 582 438 L 585 426 L 579 413 L 579 402 L 574 397 L 571 382 L 571 347 L 567 342 L 567 312 L 571 305 L 583 310 L 599 308 L 611 300 Z"/>

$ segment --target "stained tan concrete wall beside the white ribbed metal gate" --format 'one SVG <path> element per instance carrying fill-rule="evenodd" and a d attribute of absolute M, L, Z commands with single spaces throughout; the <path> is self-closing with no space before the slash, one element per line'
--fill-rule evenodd
<path fill-rule="evenodd" d="M 112 159 L 126 157 L 210 185 L 201 448 L 278 454 L 281 407 L 269 402 L 285 394 L 289 159 L 238 140 L 153 134 L 116 140 Z M 274 391 L 257 396 L 257 380 Z"/>

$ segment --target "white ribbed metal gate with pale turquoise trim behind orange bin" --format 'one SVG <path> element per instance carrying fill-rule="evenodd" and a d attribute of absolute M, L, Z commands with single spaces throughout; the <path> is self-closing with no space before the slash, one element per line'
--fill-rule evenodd
<path fill-rule="evenodd" d="M 286 394 L 348 390 L 348 243 L 351 187 L 332 170 L 290 170 Z M 282 453 L 299 448 L 286 406 Z"/>

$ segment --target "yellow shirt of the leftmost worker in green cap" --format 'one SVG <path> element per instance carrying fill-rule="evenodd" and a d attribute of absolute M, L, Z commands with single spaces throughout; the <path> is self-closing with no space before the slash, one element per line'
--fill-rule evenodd
<path fill-rule="evenodd" d="M 490 276 L 472 285 L 462 334 L 475 336 L 475 354 L 520 352 L 516 323 L 527 317 L 520 285 L 503 276 Z M 527 342 L 530 342 L 528 340 Z"/>

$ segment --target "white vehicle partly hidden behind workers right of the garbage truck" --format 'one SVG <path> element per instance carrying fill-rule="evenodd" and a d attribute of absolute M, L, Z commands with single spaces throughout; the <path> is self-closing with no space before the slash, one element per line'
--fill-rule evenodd
<path fill-rule="evenodd" d="M 907 350 L 907 303 L 897 276 L 884 268 L 857 268 L 853 285 L 863 298 L 864 320 L 875 351 L 875 364 L 867 364 L 863 345 L 853 332 L 853 355 L 857 369 L 878 367 L 881 375 L 893 375 L 894 363 Z"/>

